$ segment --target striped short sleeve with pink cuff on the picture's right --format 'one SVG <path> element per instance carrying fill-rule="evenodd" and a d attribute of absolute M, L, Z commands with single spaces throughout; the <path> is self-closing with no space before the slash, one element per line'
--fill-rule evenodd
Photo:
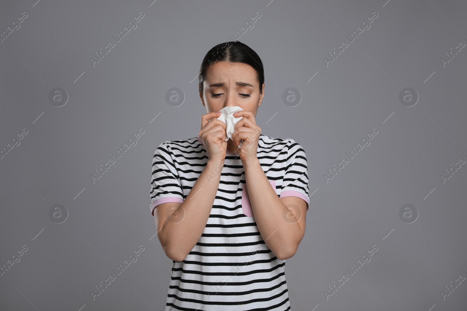
<path fill-rule="evenodd" d="M 290 138 L 287 151 L 285 173 L 282 181 L 280 198 L 296 196 L 306 202 L 306 210 L 310 207 L 308 189 L 308 165 L 306 154 L 300 144 Z"/>

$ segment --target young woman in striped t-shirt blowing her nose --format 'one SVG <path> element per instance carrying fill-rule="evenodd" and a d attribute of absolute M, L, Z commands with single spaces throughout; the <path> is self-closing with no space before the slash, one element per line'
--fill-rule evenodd
<path fill-rule="evenodd" d="M 198 136 L 165 141 L 153 158 L 150 211 L 172 259 L 165 310 L 290 310 L 285 260 L 309 207 L 304 149 L 261 134 L 262 61 L 244 43 L 213 47 L 198 85 Z M 235 106 L 242 118 L 226 141 L 218 111 Z"/>

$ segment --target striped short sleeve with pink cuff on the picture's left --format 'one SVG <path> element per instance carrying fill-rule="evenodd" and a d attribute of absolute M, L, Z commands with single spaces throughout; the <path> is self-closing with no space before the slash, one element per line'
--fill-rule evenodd
<path fill-rule="evenodd" d="M 167 141 L 157 147 L 152 158 L 151 203 L 149 209 L 154 216 L 154 208 L 161 203 L 183 203 L 183 190 L 177 169 L 172 158 L 173 152 Z"/>

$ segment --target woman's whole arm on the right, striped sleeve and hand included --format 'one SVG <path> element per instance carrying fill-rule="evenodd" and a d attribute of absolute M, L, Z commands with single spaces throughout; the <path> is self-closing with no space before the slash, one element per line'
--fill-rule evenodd
<path fill-rule="evenodd" d="M 251 111 L 237 111 L 233 116 L 243 117 L 235 124 L 232 138 L 237 152 L 240 151 L 241 163 L 245 168 L 246 186 L 256 225 L 269 249 L 277 258 L 285 260 L 294 256 L 305 234 L 308 202 L 304 199 L 307 198 L 305 194 L 308 193 L 308 186 L 300 179 L 307 175 L 305 153 L 300 147 L 300 152 L 290 153 L 289 156 L 288 149 L 288 165 L 283 178 L 283 183 L 286 182 L 285 187 L 283 184 L 281 189 L 283 192 L 297 192 L 303 195 L 304 199 L 292 197 L 290 194 L 283 198 L 277 197 L 257 158 L 261 128 L 256 124 L 255 116 Z M 243 142 L 239 148 L 241 141 Z M 291 142 L 295 143 L 293 140 Z M 295 149 L 299 146 L 296 143 L 294 145 Z M 303 174 L 297 177 L 300 175 L 297 174 L 299 171 Z M 292 185 L 294 182 L 297 182 L 297 185 Z"/>

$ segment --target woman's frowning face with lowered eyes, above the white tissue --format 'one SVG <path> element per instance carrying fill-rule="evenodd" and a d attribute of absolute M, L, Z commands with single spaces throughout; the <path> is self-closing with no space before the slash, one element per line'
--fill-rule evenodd
<path fill-rule="evenodd" d="M 224 107 L 239 106 L 256 117 L 264 97 L 264 83 L 260 95 L 256 71 L 242 62 L 214 62 L 206 71 L 203 94 L 199 94 L 206 112 Z"/>

